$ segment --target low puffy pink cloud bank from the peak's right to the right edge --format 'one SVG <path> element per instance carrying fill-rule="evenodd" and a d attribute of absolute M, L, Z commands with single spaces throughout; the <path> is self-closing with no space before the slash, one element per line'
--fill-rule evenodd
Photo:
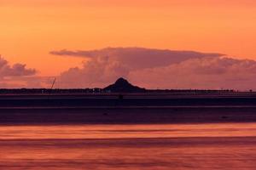
<path fill-rule="evenodd" d="M 131 71 L 129 77 L 148 88 L 256 89 L 256 61 L 220 57 L 188 59 L 165 67 Z"/>

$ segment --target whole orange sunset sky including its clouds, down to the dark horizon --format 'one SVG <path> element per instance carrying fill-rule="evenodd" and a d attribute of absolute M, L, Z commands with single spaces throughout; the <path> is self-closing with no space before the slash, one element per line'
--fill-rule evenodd
<path fill-rule="evenodd" d="M 57 88 L 86 88 L 127 77 L 148 88 L 247 89 L 256 79 L 255 0 L 0 0 L 0 23 L 2 88 L 47 88 L 52 77 L 60 80 Z M 177 57 L 183 51 L 220 55 L 135 68 L 118 59 L 130 57 L 127 48 L 136 55 L 135 47 L 145 55 L 161 49 L 179 51 Z M 101 53 L 81 53 L 93 50 Z M 132 61 L 145 59 L 143 54 Z M 101 60 L 105 55 L 111 58 L 107 63 Z M 211 73 L 198 71 L 207 65 L 215 66 Z M 165 74 L 179 69 L 179 77 L 190 78 L 166 81 Z M 101 79 L 91 79 L 90 73 L 98 77 L 101 71 Z"/>

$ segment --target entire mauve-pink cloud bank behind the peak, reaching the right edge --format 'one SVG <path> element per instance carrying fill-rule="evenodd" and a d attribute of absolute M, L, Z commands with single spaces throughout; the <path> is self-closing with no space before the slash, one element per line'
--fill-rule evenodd
<path fill-rule="evenodd" d="M 222 54 L 147 48 L 51 52 L 84 57 L 82 68 L 58 77 L 62 88 L 105 87 L 119 77 L 145 88 L 256 89 L 256 61 Z"/>

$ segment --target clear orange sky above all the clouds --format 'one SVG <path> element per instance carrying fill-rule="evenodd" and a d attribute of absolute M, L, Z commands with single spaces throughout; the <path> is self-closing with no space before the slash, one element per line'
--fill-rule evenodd
<path fill-rule="evenodd" d="M 49 51 L 195 50 L 256 59 L 255 0 L 0 0 L 0 54 L 42 76 L 83 59 Z"/>

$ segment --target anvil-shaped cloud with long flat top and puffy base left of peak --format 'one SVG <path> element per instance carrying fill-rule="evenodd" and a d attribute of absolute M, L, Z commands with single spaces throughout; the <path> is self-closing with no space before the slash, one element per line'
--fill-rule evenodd
<path fill-rule="evenodd" d="M 62 88 L 104 87 L 118 77 L 129 77 L 131 71 L 172 65 L 187 59 L 222 55 L 149 48 L 103 48 L 90 51 L 61 50 L 50 52 L 50 54 L 89 59 L 89 61 L 84 62 L 82 68 L 71 68 L 61 73 L 57 83 L 61 84 Z"/>

